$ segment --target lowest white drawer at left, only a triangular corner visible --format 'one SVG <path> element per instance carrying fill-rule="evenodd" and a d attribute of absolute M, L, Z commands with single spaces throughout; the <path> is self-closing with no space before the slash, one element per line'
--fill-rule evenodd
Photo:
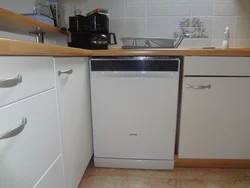
<path fill-rule="evenodd" d="M 37 182 L 34 188 L 64 188 L 62 155 L 51 165 L 42 179 Z"/>

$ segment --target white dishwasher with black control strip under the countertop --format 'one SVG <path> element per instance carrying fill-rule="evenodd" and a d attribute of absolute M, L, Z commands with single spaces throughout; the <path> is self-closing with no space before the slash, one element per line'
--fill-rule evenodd
<path fill-rule="evenodd" d="M 95 166 L 173 169 L 180 59 L 90 64 Z"/>

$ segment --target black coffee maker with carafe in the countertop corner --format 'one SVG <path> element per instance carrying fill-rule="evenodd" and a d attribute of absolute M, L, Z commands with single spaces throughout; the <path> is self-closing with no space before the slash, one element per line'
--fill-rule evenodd
<path fill-rule="evenodd" d="M 69 18 L 71 32 L 70 47 L 91 50 L 108 49 L 117 44 L 114 33 L 109 33 L 109 18 L 106 14 L 93 13 L 89 16 L 75 15 Z"/>

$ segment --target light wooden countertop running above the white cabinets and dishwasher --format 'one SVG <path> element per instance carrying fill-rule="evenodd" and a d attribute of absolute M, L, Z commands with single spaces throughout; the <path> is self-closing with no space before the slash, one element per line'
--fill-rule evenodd
<path fill-rule="evenodd" d="M 249 56 L 250 48 L 213 49 L 164 49 L 164 50 L 84 50 L 53 44 L 18 41 L 0 38 L 0 55 L 89 57 L 89 56 Z"/>

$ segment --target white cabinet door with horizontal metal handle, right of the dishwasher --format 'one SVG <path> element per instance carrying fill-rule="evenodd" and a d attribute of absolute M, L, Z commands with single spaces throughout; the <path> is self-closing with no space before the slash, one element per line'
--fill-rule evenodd
<path fill-rule="evenodd" d="M 250 78 L 184 78 L 180 158 L 250 159 L 249 84 Z"/>

